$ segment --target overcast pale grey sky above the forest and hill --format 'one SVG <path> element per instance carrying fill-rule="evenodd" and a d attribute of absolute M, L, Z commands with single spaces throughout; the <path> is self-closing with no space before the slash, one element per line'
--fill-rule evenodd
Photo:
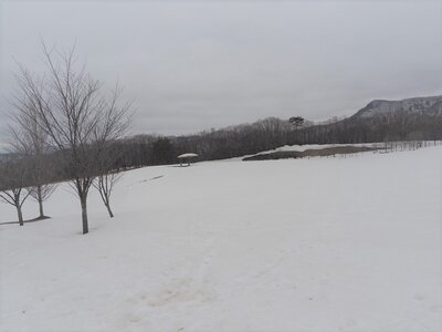
<path fill-rule="evenodd" d="M 442 1 L 3 1 L 0 131 L 15 61 L 70 48 L 135 100 L 133 133 L 187 134 L 442 94 Z"/>

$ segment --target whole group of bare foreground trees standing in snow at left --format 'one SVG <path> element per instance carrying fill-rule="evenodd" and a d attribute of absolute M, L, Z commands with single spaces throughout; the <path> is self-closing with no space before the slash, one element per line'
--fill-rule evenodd
<path fill-rule="evenodd" d="M 40 205 L 54 190 L 54 181 L 69 180 L 82 210 L 83 234 L 88 232 L 87 197 L 95 187 L 109 216 L 110 193 L 119 178 L 115 142 L 130 124 L 130 103 L 122 104 L 116 86 L 103 93 L 103 84 L 75 63 L 74 48 L 65 53 L 43 44 L 44 75 L 20 66 L 12 97 L 11 146 L 13 160 L 0 165 L 0 190 L 4 201 L 18 209 L 31 196 Z M 24 193 L 24 194 L 23 194 Z"/>

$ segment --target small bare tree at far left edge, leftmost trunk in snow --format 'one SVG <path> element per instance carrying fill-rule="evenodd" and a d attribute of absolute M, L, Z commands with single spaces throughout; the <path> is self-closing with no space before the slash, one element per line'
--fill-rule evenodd
<path fill-rule="evenodd" d="M 27 163 L 18 157 L 0 164 L 0 200 L 15 207 L 20 226 L 23 226 L 22 206 L 30 195 L 25 190 L 28 170 Z"/>

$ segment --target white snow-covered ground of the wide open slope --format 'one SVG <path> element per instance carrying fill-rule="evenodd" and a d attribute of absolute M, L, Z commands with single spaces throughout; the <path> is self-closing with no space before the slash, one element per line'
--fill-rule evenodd
<path fill-rule="evenodd" d="M 148 167 L 86 236 L 59 188 L 0 226 L 0 331 L 442 331 L 441 173 L 440 146 Z"/>

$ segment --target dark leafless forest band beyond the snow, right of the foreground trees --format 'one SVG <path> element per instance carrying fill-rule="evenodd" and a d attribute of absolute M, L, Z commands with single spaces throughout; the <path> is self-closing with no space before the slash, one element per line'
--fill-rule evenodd
<path fill-rule="evenodd" d="M 442 139 L 442 116 L 435 113 L 392 112 L 370 117 L 351 116 L 302 125 L 269 117 L 185 136 L 137 135 L 116 144 L 118 168 L 177 163 L 182 153 L 197 153 L 200 160 L 214 160 L 274 149 L 283 145 L 356 144 Z"/>

